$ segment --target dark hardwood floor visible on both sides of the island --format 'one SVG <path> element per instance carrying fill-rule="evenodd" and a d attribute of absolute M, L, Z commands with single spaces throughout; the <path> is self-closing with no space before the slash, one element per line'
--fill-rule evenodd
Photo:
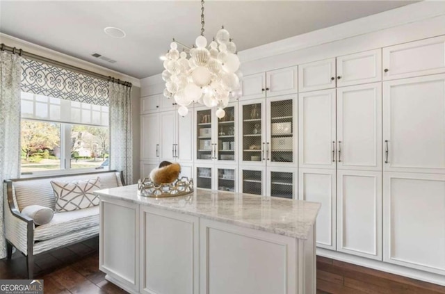
<path fill-rule="evenodd" d="M 127 293 L 99 271 L 98 247 L 98 238 L 92 238 L 35 256 L 35 277 L 44 279 L 44 293 Z M 22 254 L 0 260 L 0 279 L 26 279 Z M 317 256 L 317 293 L 445 294 L 445 287 Z"/>

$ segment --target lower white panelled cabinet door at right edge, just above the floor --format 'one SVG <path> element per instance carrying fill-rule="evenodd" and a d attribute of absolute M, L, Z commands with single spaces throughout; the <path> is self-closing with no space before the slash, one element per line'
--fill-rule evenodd
<path fill-rule="evenodd" d="M 384 261 L 445 275 L 445 175 L 384 174 Z"/>

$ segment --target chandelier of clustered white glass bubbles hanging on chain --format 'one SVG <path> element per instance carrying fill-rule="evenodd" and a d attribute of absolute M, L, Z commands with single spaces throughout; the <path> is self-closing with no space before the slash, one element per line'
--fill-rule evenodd
<path fill-rule="evenodd" d="M 201 35 L 195 45 L 187 47 L 175 39 L 164 60 L 164 96 L 174 98 L 179 104 L 179 115 L 185 116 L 193 102 L 210 108 L 218 108 L 216 116 L 224 117 L 223 108 L 231 97 L 241 96 L 241 72 L 237 72 L 240 61 L 236 55 L 236 45 L 224 26 L 216 33 L 216 38 L 207 47 L 204 37 L 204 0 L 201 1 Z M 181 53 L 178 44 L 183 47 Z"/>

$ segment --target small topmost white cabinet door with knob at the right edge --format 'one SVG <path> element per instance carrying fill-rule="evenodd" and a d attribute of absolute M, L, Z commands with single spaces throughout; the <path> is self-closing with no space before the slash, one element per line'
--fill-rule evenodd
<path fill-rule="evenodd" d="M 383 79 L 445 72 L 445 36 L 383 48 Z"/>

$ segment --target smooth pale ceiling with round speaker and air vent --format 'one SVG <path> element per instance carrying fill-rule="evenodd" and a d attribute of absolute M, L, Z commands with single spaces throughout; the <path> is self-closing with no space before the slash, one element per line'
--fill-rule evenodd
<path fill-rule="evenodd" d="M 238 51 L 373 15 L 414 1 L 207 1 L 205 33 L 222 24 Z M 162 72 L 172 38 L 193 44 L 200 1 L 0 1 L 0 32 L 138 79 Z M 107 26 L 127 33 L 104 33 Z M 6 44 L 8 45 L 8 44 Z M 102 54 L 116 63 L 92 57 Z"/>

